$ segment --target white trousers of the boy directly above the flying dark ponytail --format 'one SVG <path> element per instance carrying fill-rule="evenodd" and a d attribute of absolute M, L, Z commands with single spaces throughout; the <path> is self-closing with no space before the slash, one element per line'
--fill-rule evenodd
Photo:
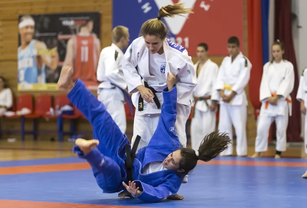
<path fill-rule="evenodd" d="M 194 117 L 191 120 L 191 146 L 199 155 L 198 150 L 205 136 L 215 131 L 216 115 L 215 111 L 200 111 L 194 109 Z"/>

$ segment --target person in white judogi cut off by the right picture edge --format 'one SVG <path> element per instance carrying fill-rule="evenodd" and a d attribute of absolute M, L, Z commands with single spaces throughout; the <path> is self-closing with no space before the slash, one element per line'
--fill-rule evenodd
<path fill-rule="evenodd" d="M 300 110 L 303 115 L 305 115 L 305 126 L 304 126 L 304 149 L 307 154 L 307 68 L 305 68 L 300 76 L 299 86 L 296 94 L 296 99 L 300 101 Z M 302 175 L 303 178 L 307 178 L 307 171 Z"/>

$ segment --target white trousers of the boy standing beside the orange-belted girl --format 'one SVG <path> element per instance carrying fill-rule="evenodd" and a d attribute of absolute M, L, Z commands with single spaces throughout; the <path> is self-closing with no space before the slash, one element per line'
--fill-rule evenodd
<path fill-rule="evenodd" d="M 234 106 L 229 103 L 221 103 L 220 118 L 218 119 L 218 131 L 228 133 L 233 140 L 232 125 L 236 133 L 236 153 L 238 156 L 247 155 L 246 121 L 247 106 Z M 233 143 L 228 145 L 228 149 L 221 153 L 221 156 L 233 154 Z"/>

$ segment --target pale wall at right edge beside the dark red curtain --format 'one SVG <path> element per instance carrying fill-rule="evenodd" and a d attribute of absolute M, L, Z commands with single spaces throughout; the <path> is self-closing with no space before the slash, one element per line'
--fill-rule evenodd
<path fill-rule="evenodd" d="M 299 75 L 307 67 L 307 0 L 293 0 L 292 11 L 297 14 L 297 20 L 293 22 L 292 33 L 295 47 L 295 55 Z M 297 25 L 302 28 L 298 29 Z M 302 117 L 302 126 L 304 119 Z M 302 136 L 304 133 L 302 128 Z"/>

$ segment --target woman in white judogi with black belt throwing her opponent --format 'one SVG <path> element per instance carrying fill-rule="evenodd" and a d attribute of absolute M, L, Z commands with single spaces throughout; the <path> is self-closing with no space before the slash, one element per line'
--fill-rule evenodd
<path fill-rule="evenodd" d="M 137 135 L 141 137 L 137 151 L 148 145 L 157 128 L 163 103 L 162 90 L 166 87 L 168 72 L 176 76 L 178 90 L 176 123 L 168 131 L 176 131 L 181 147 L 186 147 L 185 126 L 196 86 L 195 71 L 187 50 L 166 38 L 168 30 L 161 20 L 176 14 L 192 13 L 192 8 L 185 9 L 183 6 L 174 4 L 162 7 L 157 18 L 143 23 L 141 37 L 131 43 L 124 55 L 123 72 L 136 107 L 131 145 L 134 145 Z"/>

